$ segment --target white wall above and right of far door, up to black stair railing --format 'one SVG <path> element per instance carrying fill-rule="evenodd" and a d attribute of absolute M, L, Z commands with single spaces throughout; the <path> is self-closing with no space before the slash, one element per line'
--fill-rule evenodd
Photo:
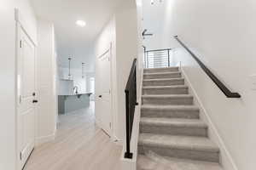
<path fill-rule="evenodd" d="M 123 3 L 112 20 L 103 28 L 95 43 L 95 56 L 103 54 L 112 43 L 112 111 L 113 138 L 122 140 L 125 135 L 125 85 L 131 64 L 137 57 L 137 10 L 135 1 Z M 96 96 L 98 92 L 97 70 L 101 69 L 96 58 Z M 96 119 L 101 114 L 97 107 Z"/>

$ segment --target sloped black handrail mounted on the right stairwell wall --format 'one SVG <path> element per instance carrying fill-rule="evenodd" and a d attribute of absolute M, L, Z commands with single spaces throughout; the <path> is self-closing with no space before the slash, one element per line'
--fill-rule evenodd
<path fill-rule="evenodd" d="M 230 91 L 229 88 L 227 88 L 223 82 L 221 82 L 218 77 L 216 77 L 212 71 L 210 71 L 206 65 L 204 65 L 201 60 L 177 37 L 175 36 L 175 39 L 177 39 L 177 42 L 179 42 L 183 48 L 185 48 L 189 54 L 196 60 L 196 62 L 201 66 L 202 70 L 205 71 L 212 79 L 212 81 L 218 86 L 218 88 L 228 97 L 228 98 L 241 98 L 241 95 L 238 93 L 233 93 Z"/>

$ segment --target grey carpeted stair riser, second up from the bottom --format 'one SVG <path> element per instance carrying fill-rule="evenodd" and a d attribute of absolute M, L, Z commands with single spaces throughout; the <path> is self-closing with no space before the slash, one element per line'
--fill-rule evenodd
<path fill-rule="evenodd" d="M 206 127 L 175 127 L 161 125 L 140 124 L 141 133 L 157 133 L 171 135 L 201 136 L 207 137 Z"/>

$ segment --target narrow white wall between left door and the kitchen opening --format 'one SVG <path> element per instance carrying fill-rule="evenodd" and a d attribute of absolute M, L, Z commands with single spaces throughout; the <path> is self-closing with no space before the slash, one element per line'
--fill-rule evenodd
<path fill-rule="evenodd" d="M 37 142 L 54 139 L 57 116 L 55 31 L 53 23 L 38 20 L 38 134 Z"/>

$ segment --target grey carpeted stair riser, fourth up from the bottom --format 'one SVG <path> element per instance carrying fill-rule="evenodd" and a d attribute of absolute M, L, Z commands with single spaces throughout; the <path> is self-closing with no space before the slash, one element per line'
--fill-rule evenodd
<path fill-rule="evenodd" d="M 143 105 L 193 105 L 193 98 L 143 98 Z"/>

